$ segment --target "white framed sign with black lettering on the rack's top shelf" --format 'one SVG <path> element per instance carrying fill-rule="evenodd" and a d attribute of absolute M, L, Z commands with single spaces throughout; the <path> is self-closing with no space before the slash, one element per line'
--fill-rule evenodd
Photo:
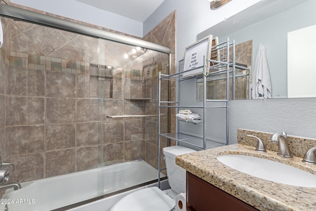
<path fill-rule="evenodd" d="M 212 35 L 209 35 L 186 47 L 184 55 L 184 71 L 183 78 L 201 75 L 203 73 L 203 56 L 210 58 Z"/>

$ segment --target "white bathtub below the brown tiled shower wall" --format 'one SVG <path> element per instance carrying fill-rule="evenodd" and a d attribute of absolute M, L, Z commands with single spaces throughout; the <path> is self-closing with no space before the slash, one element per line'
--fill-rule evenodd
<path fill-rule="evenodd" d="M 132 161 L 24 182 L 22 189 L 5 192 L 0 211 L 5 206 L 9 211 L 51 211 L 157 178 L 157 169 L 145 161 Z"/>

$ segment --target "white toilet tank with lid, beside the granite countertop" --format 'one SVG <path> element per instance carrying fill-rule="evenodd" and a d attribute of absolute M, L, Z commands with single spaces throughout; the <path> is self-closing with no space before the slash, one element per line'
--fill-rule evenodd
<path fill-rule="evenodd" d="M 186 170 L 175 164 L 176 156 L 196 152 L 196 150 L 182 146 L 170 146 L 163 148 L 162 152 L 166 159 L 167 176 L 171 189 L 178 194 L 186 192 Z"/>

